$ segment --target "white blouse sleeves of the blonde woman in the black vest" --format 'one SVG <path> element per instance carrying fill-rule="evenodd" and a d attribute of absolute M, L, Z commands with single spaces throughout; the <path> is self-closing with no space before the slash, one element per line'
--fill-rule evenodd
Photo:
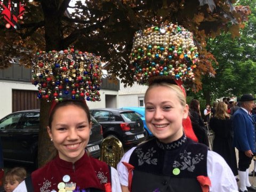
<path fill-rule="evenodd" d="M 122 162 L 129 163 L 133 147 L 127 151 L 117 165 L 119 180 L 122 186 L 128 186 L 128 171 Z M 207 175 L 211 180 L 210 192 L 233 192 L 238 191 L 236 179 L 226 161 L 214 151 L 207 153 Z"/>

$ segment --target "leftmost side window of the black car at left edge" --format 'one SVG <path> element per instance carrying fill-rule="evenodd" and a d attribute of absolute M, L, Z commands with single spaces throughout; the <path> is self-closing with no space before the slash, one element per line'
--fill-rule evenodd
<path fill-rule="evenodd" d="M 19 123 L 20 117 L 22 116 L 21 113 L 19 114 L 11 114 L 4 117 L 0 122 L 0 129 L 1 130 L 9 130 L 15 129 Z"/>

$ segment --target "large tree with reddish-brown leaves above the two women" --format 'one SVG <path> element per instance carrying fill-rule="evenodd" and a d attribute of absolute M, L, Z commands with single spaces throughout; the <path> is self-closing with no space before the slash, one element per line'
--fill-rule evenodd
<path fill-rule="evenodd" d="M 125 85 L 133 84 L 129 68 L 129 53 L 135 31 L 162 22 L 178 23 L 194 33 L 201 54 L 201 62 L 195 69 L 194 90 L 201 88 L 201 74 L 214 74 L 207 52 L 206 37 L 218 36 L 221 31 L 239 35 L 239 28 L 247 20 L 247 6 L 233 6 L 228 1 L 189 0 L 86 0 L 77 1 L 76 12 L 68 17 L 70 0 L 37 0 L 26 2 L 26 13 L 19 30 L 0 28 L 0 67 L 10 65 L 9 60 L 20 57 L 20 63 L 29 66 L 31 55 L 43 51 L 63 50 L 74 45 L 76 49 L 101 55 L 110 62 L 108 72 L 121 78 Z M 41 101 L 41 127 L 39 133 L 39 165 L 45 163 L 51 148 L 47 140 L 46 125 L 50 104 Z"/>

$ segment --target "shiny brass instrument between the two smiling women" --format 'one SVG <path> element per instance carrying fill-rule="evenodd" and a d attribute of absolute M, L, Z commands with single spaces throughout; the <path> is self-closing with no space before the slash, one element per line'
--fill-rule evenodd
<path fill-rule="evenodd" d="M 118 162 L 124 155 L 122 142 L 110 135 L 103 139 L 100 149 L 100 160 L 116 168 Z"/>

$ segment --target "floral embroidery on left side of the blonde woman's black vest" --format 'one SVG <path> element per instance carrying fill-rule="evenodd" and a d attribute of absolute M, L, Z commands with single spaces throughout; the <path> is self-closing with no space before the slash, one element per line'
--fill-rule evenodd
<path fill-rule="evenodd" d="M 145 154 L 141 150 L 141 148 L 137 148 L 135 150 L 135 153 L 137 153 L 137 157 L 139 157 L 139 159 L 138 159 L 139 166 L 143 165 L 143 163 L 145 163 L 145 162 L 147 164 L 157 165 L 157 158 L 151 158 L 151 157 L 153 157 L 153 154 L 156 153 L 156 150 L 154 150 L 153 147 L 151 149 L 148 149 L 148 152 Z"/>

